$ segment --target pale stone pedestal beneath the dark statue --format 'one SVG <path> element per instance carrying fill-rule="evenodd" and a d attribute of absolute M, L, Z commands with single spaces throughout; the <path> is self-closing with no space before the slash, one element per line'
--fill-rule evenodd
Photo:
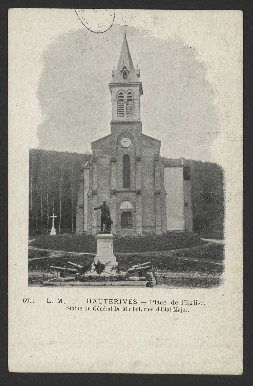
<path fill-rule="evenodd" d="M 116 274 L 115 270 L 112 269 L 118 265 L 116 262 L 116 257 L 113 254 L 114 236 L 111 233 L 99 233 L 96 235 L 96 239 L 97 254 L 94 257 L 93 264 L 91 265 L 91 271 L 94 270 L 94 264 L 96 264 L 99 260 L 101 263 L 107 264 L 105 271 L 103 272 L 103 276 L 108 276 L 106 275 L 106 272 Z"/>

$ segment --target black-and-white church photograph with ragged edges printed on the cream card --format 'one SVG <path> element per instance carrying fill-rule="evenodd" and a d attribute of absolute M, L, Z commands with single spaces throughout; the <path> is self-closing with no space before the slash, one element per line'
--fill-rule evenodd
<path fill-rule="evenodd" d="M 91 30 L 97 11 L 75 13 L 83 28 L 40 59 L 29 286 L 221 285 L 221 130 L 196 47 L 131 17 Z"/>

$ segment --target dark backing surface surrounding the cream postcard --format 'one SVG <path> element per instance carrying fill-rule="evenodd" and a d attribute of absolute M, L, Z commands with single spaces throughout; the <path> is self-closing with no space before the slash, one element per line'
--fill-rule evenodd
<path fill-rule="evenodd" d="M 211 1 L 211 0 L 160 0 L 135 2 L 110 2 L 86 1 L 85 3 L 71 0 L 44 0 L 44 1 L 3 1 L 0 7 L 1 26 L 0 44 L 2 66 L 0 84 L 0 235 L 2 239 L 1 251 L 1 372 L 3 385 L 51 385 L 51 384 L 77 384 L 77 385 L 251 385 L 253 383 L 253 355 L 252 355 L 252 329 L 253 329 L 253 296 L 252 296 L 252 40 L 253 40 L 253 7 L 252 0 L 245 1 Z M 113 8 L 127 9 L 210 9 L 210 10 L 242 10 L 243 11 L 243 363 L 242 375 L 174 375 L 174 374 L 57 374 L 57 373 L 10 373 L 7 363 L 7 172 L 8 172 L 8 105 L 7 105 L 7 18 L 8 8 Z M 10 219 L 11 222 L 11 219 Z M 237 230 L 235 229 L 235 232 Z M 85 348 L 84 348 L 85 349 Z M 162 358 L 161 358 L 162 360 Z M 174 358 L 172 358 L 172 361 Z"/>

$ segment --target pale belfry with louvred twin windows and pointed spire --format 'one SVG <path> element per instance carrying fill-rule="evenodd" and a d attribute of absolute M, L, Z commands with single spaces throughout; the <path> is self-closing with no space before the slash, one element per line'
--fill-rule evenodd
<path fill-rule="evenodd" d="M 140 95 L 142 82 L 140 70 L 134 68 L 128 47 L 126 29 L 117 69 L 112 71 L 109 83 L 111 91 L 111 121 L 140 121 Z"/>

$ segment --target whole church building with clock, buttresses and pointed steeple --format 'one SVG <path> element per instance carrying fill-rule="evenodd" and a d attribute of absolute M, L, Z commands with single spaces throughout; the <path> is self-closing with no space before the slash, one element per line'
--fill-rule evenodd
<path fill-rule="evenodd" d="M 97 234 L 103 201 L 112 234 L 193 232 L 190 170 L 183 159 L 163 159 L 161 142 L 142 132 L 140 70 L 134 68 L 126 34 L 112 71 L 111 133 L 91 143 L 76 205 L 76 234 Z"/>

